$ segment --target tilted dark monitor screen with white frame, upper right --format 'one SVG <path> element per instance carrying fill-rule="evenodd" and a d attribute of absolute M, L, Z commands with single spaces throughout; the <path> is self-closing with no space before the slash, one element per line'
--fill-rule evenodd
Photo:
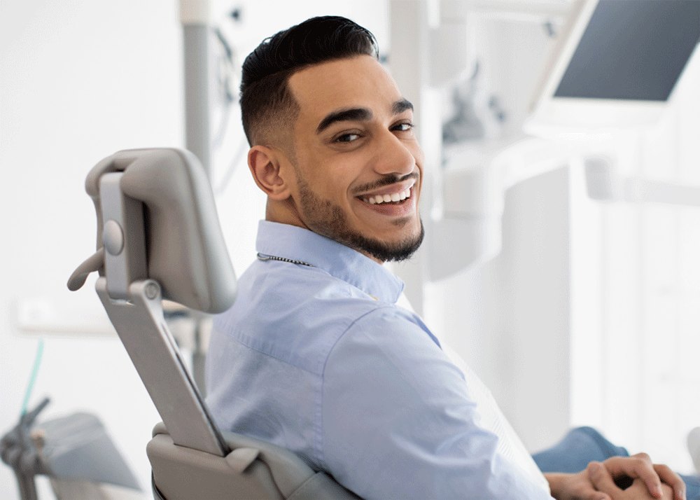
<path fill-rule="evenodd" d="M 530 125 L 652 123 L 700 39 L 700 0 L 586 0 L 564 38 Z"/>

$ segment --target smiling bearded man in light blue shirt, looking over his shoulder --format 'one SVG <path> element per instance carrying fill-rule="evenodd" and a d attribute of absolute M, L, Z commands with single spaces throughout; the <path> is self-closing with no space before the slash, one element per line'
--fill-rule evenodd
<path fill-rule="evenodd" d="M 395 305 L 403 284 L 381 263 L 423 239 L 423 155 L 372 34 L 314 18 L 264 41 L 244 62 L 241 113 L 267 207 L 258 261 L 209 346 L 223 429 L 364 499 L 685 498 L 647 457 L 543 475 L 479 380 Z"/>

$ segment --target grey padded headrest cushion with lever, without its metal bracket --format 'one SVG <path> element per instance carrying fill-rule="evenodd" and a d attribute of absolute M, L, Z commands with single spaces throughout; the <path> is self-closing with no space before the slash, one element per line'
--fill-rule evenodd
<path fill-rule="evenodd" d="M 79 289 L 92 270 L 104 275 L 100 179 L 111 172 L 123 172 L 121 192 L 144 205 L 147 276 L 143 278 L 158 281 L 163 298 L 191 309 L 227 310 L 236 298 L 236 277 L 207 174 L 195 155 L 184 149 L 119 151 L 87 174 L 85 190 L 97 213 L 97 254 L 73 273 L 69 289 Z"/>

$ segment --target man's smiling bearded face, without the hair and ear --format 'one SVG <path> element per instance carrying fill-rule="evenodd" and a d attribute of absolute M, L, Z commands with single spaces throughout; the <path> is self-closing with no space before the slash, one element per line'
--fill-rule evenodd
<path fill-rule="evenodd" d="M 367 55 L 316 64 L 289 85 L 300 106 L 292 198 L 302 223 L 376 261 L 409 257 L 423 238 L 412 105 Z"/>

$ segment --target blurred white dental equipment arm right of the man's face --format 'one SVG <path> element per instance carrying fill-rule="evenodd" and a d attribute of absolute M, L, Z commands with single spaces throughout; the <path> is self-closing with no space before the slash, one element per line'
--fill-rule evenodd
<path fill-rule="evenodd" d="M 440 172 L 440 209 L 426 221 L 432 235 L 430 279 L 449 277 L 498 255 L 505 190 L 576 162 L 584 167 L 591 200 L 700 207 L 700 186 L 619 176 L 615 160 L 585 143 L 527 139 L 486 158 L 466 151 Z"/>

